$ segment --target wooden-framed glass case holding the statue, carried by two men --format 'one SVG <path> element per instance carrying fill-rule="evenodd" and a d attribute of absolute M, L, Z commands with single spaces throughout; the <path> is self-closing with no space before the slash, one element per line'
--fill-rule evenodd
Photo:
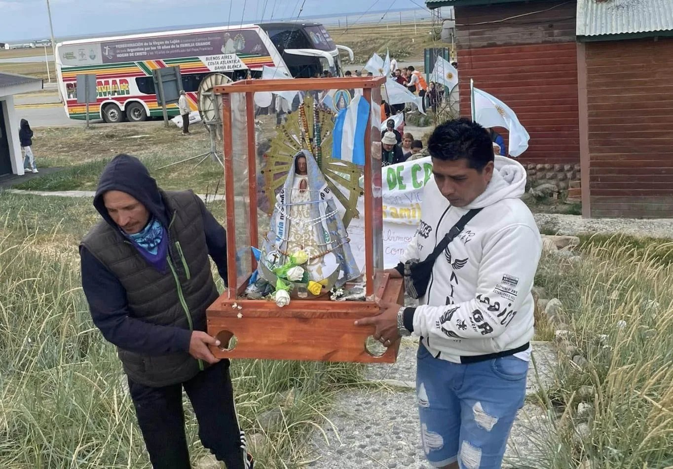
<path fill-rule="evenodd" d="M 224 135 L 229 284 L 207 309 L 221 358 L 384 362 L 384 77 L 244 80 L 215 87 Z M 378 342 L 376 342 L 378 345 Z"/>

